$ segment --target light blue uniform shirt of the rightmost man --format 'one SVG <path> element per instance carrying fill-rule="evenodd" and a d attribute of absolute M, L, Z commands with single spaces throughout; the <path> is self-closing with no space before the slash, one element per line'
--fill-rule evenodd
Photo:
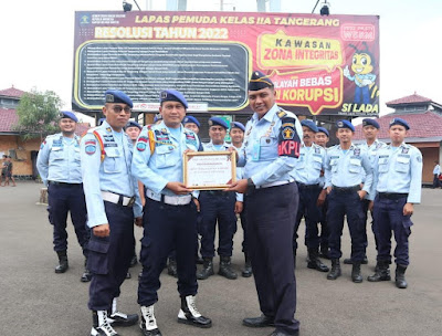
<path fill-rule="evenodd" d="M 378 150 L 375 161 L 373 190 L 408 193 L 407 202 L 420 203 L 422 189 L 422 154 L 402 143 Z"/>

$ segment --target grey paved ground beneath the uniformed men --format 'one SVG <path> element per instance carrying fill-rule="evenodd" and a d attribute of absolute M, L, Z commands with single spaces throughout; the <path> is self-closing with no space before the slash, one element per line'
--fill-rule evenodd
<path fill-rule="evenodd" d="M 48 223 L 45 207 L 35 204 L 41 186 L 19 182 L 17 188 L 0 188 L 0 335 L 88 335 L 92 321 L 86 306 L 88 285 L 80 282 L 81 250 L 70 225 L 70 270 L 65 274 L 54 273 L 52 227 Z M 301 249 L 296 271 L 296 317 L 301 321 L 301 335 L 441 335 L 441 202 L 442 190 L 424 189 L 423 204 L 415 208 L 408 290 L 396 288 L 393 282 L 354 284 L 348 265 L 337 281 L 327 281 L 324 273 L 306 267 L 306 251 Z M 140 237 L 139 229 L 136 234 Z M 375 266 L 372 234 L 369 238 L 369 264 L 362 266 L 365 276 Z M 240 229 L 233 256 L 238 270 L 243 263 L 241 239 Z M 348 231 L 343 245 L 348 255 Z M 124 312 L 138 312 L 138 272 L 139 265 L 131 269 L 134 277 L 123 285 Z M 272 332 L 241 325 L 243 317 L 260 314 L 253 279 L 229 281 L 215 275 L 200 282 L 198 307 L 212 318 L 211 329 L 179 325 L 176 280 L 164 274 L 161 282 L 156 316 L 162 335 L 264 336 Z M 118 330 L 124 336 L 140 335 L 137 326 Z"/>

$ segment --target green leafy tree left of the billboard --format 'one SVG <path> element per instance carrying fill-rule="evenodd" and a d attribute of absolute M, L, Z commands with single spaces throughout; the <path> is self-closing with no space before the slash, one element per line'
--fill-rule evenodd
<path fill-rule="evenodd" d="M 57 130 L 56 119 L 62 104 L 62 99 L 54 92 L 43 93 L 32 88 L 20 99 L 17 107 L 19 122 L 14 128 L 22 133 L 25 139 L 40 136 L 43 140 L 43 137 Z"/>

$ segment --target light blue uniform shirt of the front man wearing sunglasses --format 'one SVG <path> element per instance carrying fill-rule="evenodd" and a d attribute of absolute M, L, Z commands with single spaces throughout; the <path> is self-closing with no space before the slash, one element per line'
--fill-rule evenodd
<path fill-rule="evenodd" d="M 102 148 L 96 130 L 103 140 L 105 157 L 102 161 Z M 86 197 L 88 227 L 108 223 L 102 191 L 110 191 L 126 197 L 135 197 L 134 216 L 143 214 L 138 195 L 138 183 L 130 172 L 133 144 L 122 130 L 115 132 L 106 120 L 90 129 L 81 143 L 83 189 Z"/>

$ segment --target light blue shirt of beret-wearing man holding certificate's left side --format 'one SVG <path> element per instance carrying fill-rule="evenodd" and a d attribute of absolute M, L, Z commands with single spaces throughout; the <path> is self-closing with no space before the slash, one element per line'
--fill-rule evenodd
<path fill-rule="evenodd" d="M 182 155 L 186 149 L 197 151 L 200 140 L 194 132 L 182 125 L 177 135 L 170 132 L 165 122 L 150 126 L 150 129 L 155 135 L 155 151 L 150 154 L 149 128 L 145 126 L 135 145 L 133 172 L 156 197 L 178 196 L 167 189 L 166 185 L 170 181 L 183 181 Z"/>

